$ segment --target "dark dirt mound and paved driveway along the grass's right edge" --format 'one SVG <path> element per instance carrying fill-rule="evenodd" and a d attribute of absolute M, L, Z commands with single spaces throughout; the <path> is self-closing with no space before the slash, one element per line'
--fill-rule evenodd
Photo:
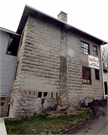
<path fill-rule="evenodd" d="M 108 134 L 107 99 L 94 100 L 89 103 L 89 107 L 94 114 L 93 118 L 61 134 Z"/>

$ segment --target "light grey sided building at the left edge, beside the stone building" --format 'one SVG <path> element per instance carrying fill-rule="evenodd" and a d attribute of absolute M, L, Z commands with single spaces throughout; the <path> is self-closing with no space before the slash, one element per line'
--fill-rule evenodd
<path fill-rule="evenodd" d="M 1 117 L 9 111 L 9 97 L 12 88 L 15 64 L 17 59 L 19 34 L 0 28 L 0 101 Z"/>

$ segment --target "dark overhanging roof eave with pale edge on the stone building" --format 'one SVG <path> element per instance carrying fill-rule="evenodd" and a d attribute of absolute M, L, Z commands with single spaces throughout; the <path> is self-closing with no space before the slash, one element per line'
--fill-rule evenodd
<path fill-rule="evenodd" d="M 85 34 L 87 36 L 90 36 L 90 37 L 98 40 L 100 42 L 100 45 L 101 44 L 107 44 L 108 43 L 108 42 L 106 42 L 106 41 L 104 41 L 102 39 L 99 39 L 99 38 L 97 38 L 97 37 L 95 37 L 95 36 L 93 36 L 93 35 L 85 32 L 85 31 L 82 31 L 82 30 L 80 30 L 80 29 L 78 29 L 78 28 L 76 28 L 76 27 L 74 27 L 74 26 L 72 26 L 70 24 L 67 24 L 67 23 L 65 23 L 65 22 L 63 22 L 63 21 L 61 21 L 61 20 L 59 20 L 57 18 L 54 18 L 54 17 L 52 17 L 52 16 L 50 16 L 50 15 L 48 15 L 46 13 L 43 13 L 43 12 L 37 10 L 37 9 L 34 9 L 34 8 L 28 6 L 28 5 L 25 5 L 24 11 L 23 11 L 23 14 L 22 14 L 22 17 L 21 17 L 21 20 L 20 20 L 20 23 L 19 23 L 19 26 L 18 26 L 18 29 L 17 29 L 17 33 L 18 34 L 21 34 L 22 33 L 22 30 L 23 30 L 23 28 L 25 26 L 25 23 L 26 23 L 28 17 L 29 16 L 33 16 L 35 14 L 39 14 L 41 16 L 44 16 L 44 17 L 53 19 L 54 21 L 56 21 L 56 22 L 60 23 L 61 25 L 63 25 L 65 27 L 65 29 L 68 29 L 69 30 L 69 29 L 72 29 L 73 28 L 74 30 L 79 31 L 80 33 L 83 33 L 83 34 Z"/>

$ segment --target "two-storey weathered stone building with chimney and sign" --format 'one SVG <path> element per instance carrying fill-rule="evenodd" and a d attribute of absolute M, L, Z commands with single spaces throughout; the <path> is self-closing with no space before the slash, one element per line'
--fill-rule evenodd
<path fill-rule="evenodd" d="M 77 107 L 83 97 L 102 99 L 100 46 L 105 41 L 25 6 L 17 32 L 21 35 L 9 116 Z"/>

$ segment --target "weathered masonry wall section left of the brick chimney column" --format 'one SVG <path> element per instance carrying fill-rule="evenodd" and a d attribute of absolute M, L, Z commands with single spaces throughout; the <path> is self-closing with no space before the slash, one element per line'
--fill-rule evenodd
<path fill-rule="evenodd" d="M 13 82 L 12 93 L 14 111 L 10 113 L 17 116 L 20 115 L 20 112 L 24 112 L 22 115 L 25 115 L 26 112 L 27 115 L 31 113 L 30 110 L 33 108 L 35 111 L 39 110 L 40 107 L 37 104 L 42 103 L 42 98 L 37 97 L 35 99 L 36 93 L 32 92 L 47 92 L 46 107 L 57 104 L 54 97 L 55 94 L 56 97 L 59 94 L 60 29 L 29 17 L 24 28 L 23 41 L 19 48 L 17 61 L 19 61 L 19 65 L 16 80 Z M 29 93 L 28 97 L 22 96 L 21 92 Z M 32 104 L 30 105 L 30 102 L 24 104 L 26 100 L 32 100 Z M 24 110 L 25 106 L 26 109 Z"/>

